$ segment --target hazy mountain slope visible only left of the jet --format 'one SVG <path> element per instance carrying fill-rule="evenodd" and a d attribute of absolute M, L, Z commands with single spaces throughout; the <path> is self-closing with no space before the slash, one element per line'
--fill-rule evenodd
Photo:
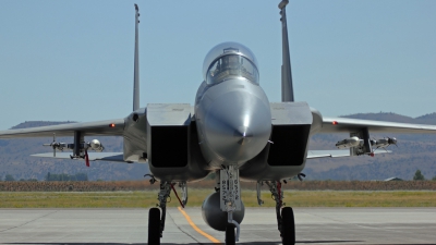
<path fill-rule="evenodd" d="M 43 122 L 27 121 L 20 123 L 12 128 L 26 128 L 35 126 L 57 125 L 73 122 Z M 122 137 L 96 137 L 105 146 L 105 151 L 122 152 Z M 85 137 L 85 140 L 92 140 Z M 31 157 L 32 154 L 51 152 L 51 148 L 43 147 L 45 143 L 51 143 L 52 137 L 47 138 L 16 138 L 0 139 L 0 177 L 4 180 L 5 174 L 11 174 L 15 180 L 38 179 L 44 180 L 50 173 L 87 173 L 89 180 L 141 180 L 148 173 L 148 164 L 143 163 L 120 163 L 92 161 L 87 168 L 84 161 L 60 160 L 50 158 Z M 72 143 L 73 137 L 58 137 L 57 142 Z"/>

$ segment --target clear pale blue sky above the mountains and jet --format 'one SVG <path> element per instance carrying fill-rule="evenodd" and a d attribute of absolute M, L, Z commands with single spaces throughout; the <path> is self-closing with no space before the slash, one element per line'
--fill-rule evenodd
<path fill-rule="evenodd" d="M 141 105 L 193 103 L 206 53 L 247 46 L 280 100 L 279 1 L 0 1 L 0 130 L 132 110 L 134 8 Z M 436 1 L 291 1 L 295 99 L 324 115 L 436 111 Z"/>

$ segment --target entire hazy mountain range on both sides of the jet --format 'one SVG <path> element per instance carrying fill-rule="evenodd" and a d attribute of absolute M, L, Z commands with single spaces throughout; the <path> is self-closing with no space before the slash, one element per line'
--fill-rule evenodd
<path fill-rule="evenodd" d="M 403 123 L 436 124 L 436 113 L 417 118 L 410 118 L 391 112 L 359 113 L 342 115 L 344 118 L 366 119 Z M 28 121 L 13 128 L 55 125 L 72 122 L 43 122 Z M 336 159 L 307 160 L 303 170 L 307 180 L 385 180 L 398 176 L 411 180 L 416 169 L 420 169 L 426 179 L 436 175 L 436 135 L 400 134 L 400 135 L 371 135 L 375 138 L 385 136 L 397 137 L 398 148 L 389 147 L 392 154 Z M 311 149 L 336 149 L 335 144 L 349 137 L 348 134 L 319 134 L 311 138 Z M 93 138 L 86 138 L 90 140 Z M 98 137 L 104 144 L 105 151 L 122 151 L 122 137 Z M 57 160 L 29 157 L 32 154 L 50 152 L 43 147 L 51 143 L 52 138 L 0 139 L 0 176 L 12 174 L 15 179 L 43 180 L 48 173 L 75 174 L 84 172 L 89 180 L 141 180 L 148 172 L 147 164 L 128 164 L 117 162 L 90 162 L 90 168 L 84 161 Z M 72 142 L 72 137 L 59 137 L 58 142 Z"/>

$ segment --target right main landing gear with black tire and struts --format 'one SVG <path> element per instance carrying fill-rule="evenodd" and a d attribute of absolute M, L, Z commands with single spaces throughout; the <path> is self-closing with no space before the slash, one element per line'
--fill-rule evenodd
<path fill-rule="evenodd" d="M 280 232 L 281 241 L 283 245 L 295 244 L 295 222 L 293 218 L 293 210 L 291 207 L 284 207 L 283 203 L 283 191 L 281 191 L 281 182 L 279 181 L 266 181 L 257 182 L 257 203 L 262 205 L 264 201 L 261 199 L 261 186 L 263 184 L 268 185 L 271 192 L 272 199 L 276 201 L 276 217 L 277 228 Z"/>

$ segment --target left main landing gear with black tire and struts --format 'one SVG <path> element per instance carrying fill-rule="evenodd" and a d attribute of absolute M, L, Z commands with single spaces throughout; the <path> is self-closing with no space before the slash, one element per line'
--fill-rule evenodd
<path fill-rule="evenodd" d="M 155 183 L 156 180 L 152 176 L 150 183 Z M 180 200 L 178 194 L 174 189 L 174 184 L 170 182 L 160 183 L 160 191 L 158 194 L 158 207 L 160 208 L 150 208 L 148 212 L 148 244 L 149 245 L 159 245 L 160 238 L 162 237 L 162 232 L 165 230 L 165 219 L 167 215 L 167 199 L 170 196 L 171 188 L 174 191 L 175 196 L 178 197 L 182 207 L 184 207 L 187 203 L 187 188 L 186 183 L 180 183 L 179 186 L 182 188 L 183 199 Z"/>

